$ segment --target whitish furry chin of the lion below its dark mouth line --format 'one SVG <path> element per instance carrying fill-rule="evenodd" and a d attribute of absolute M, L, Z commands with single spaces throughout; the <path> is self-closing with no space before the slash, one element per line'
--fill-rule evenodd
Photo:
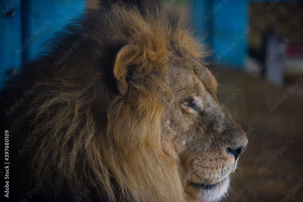
<path fill-rule="evenodd" d="M 216 184 L 190 184 L 192 200 L 189 201 L 218 201 L 228 190 L 229 176 Z"/>

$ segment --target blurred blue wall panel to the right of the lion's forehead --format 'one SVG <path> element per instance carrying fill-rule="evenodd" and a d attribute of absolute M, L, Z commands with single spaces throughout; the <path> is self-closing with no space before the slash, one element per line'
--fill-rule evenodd
<path fill-rule="evenodd" d="M 242 68 L 248 55 L 248 0 L 194 0 L 192 6 L 193 29 L 206 35 L 213 61 Z"/>

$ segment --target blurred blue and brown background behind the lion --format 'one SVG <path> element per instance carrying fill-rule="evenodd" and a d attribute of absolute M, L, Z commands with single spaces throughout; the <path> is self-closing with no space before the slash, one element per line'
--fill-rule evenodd
<path fill-rule="evenodd" d="M 129 1 L 179 7 L 213 51 L 206 60 L 218 99 L 249 140 L 224 201 L 303 201 L 303 1 Z M 68 19 L 97 7 L 95 0 L 0 1 L 0 83 Z"/>

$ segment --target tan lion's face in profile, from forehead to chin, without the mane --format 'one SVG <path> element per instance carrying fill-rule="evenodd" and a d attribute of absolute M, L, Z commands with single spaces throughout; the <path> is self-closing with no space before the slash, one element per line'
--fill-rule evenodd
<path fill-rule="evenodd" d="M 216 98 L 217 82 L 187 52 L 171 53 L 162 95 L 161 144 L 178 164 L 188 199 L 213 201 L 226 193 L 248 140 L 245 131 Z"/>

